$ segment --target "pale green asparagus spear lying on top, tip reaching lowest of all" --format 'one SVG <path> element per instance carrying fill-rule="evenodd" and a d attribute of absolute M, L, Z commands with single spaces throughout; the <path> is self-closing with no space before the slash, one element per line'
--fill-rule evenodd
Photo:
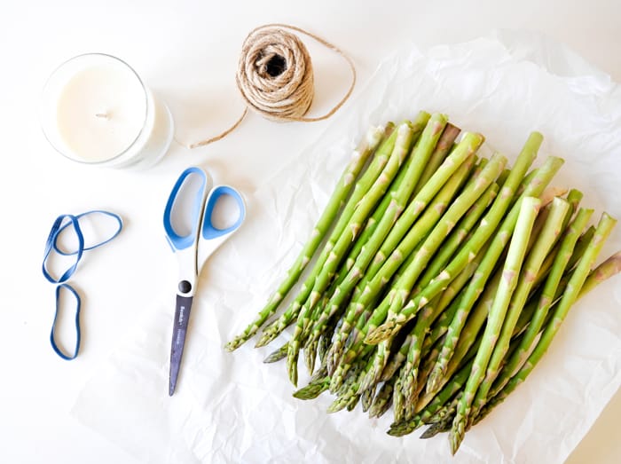
<path fill-rule="evenodd" d="M 453 454 L 457 452 L 463 440 L 466 424 L 468 422 L 468 414 L 470 413 L 470 407 L 475 397 L 476 389 L 478 389 L 483 380 L 485 368 L 487 367 L 491 352 L 498 340 L 507 307 L 515 290 L 517 277 L 522 268 L 524 254 L 531 236 L 532 225 L 537 217 L 540 203 L 541 201 L 534 197 L 525 197 L 520 203 L 515 232 L 509 244 L 507 260 L 502 271 L 502 278 L 499 282 L 494 303 L 491 305 L 481 346 L 476 352 L 475 362 L 472 366 L 470 376 L 468 377 L 464 395 L 461 397 L 460 405 L 455 414 L 455 420 L 453 421 L 451 434 L 449 436 Z"/>

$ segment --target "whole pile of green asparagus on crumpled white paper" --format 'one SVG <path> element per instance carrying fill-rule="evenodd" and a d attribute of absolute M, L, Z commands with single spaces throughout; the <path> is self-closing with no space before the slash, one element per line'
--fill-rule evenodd
<path fill-rule="evenodd" d="M 389 435 L 429 424 L 422 437 L 449 431 L 453 453 L 531 373 L 573 303 L 621 271 L 621 253 L 595 267 L 616 220 L 588 226 L 582 193 L 548 187 L 562 159 L 531 169 L 538 132 L 512 169 L 477 156 L 482 135 L 459 134 L 426 112 L 370 129 L 287 278 L 226 345 L 255 335 L 315 258 L 263 328 L 256 346 L 294 326 L 265 362 L 287 358 L 296 384 L 303 349 L 312 377 L 295 397 L 329 390 L 328 412 L 361 402 L 372 417 L 393 405 Z"/>

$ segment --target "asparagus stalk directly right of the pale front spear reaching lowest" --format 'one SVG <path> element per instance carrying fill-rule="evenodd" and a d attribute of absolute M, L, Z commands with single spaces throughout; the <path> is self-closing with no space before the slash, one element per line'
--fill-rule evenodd
<path fill-rule="evenodd" d="M 473 403 L 473 417 L 476 416 L 476 413 L 485 404 L 487 394 L 491 389 L 491 383 L 499 374 L 501 364 L 507 355 L 515 324 L 531 292 L 532 284 L 537 277 L 541 263 L 543 263 L 548 251 L 554 245 L 554 241 L 560 235 L 562 224 L 570 210 L 570 203 L 561 198 L 555 198 L 550 205 L 546 222 L 541 227 L 540 233 L 523 265 L 523 271 L 515 287 L 515 292 L 511 297 L 499 339 L 496 341 L 491 353 L 485 377 L 476 390 L 476 397 Z"/>

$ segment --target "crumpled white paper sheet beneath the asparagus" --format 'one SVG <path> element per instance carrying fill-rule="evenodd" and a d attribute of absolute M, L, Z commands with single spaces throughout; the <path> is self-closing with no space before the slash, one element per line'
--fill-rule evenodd
<path fill-rule="evenodd" d="M 456 458 L 444 435 L 386 435 L 390 413 L 379 420 L 359 407 L 327 414 L 327 394 L 310 402 L 291 397 L 284 363 L 262 364 L 278 342 L 261 350 L 250 342 L 232 354 L 222 348 L 293 262 L 366 128 L 419 109 L 482 132 L 511 161 L 529 132 L 541 131 L 538 162 L 548 153 L 567 160 L 556 183 L 583 190 L 597 215 L 605 208 L 621 217 L 621 88 L 608 75 L 532 34 L 407 47 L 381 64 L 315 145 L 248 199 L 246 224 L 202 272 L 209 291 L 194 303 L 175 396 L 167 394 L 173 302 L 162 289 L 83 389 L 73 411 L 78 420 L 145 462 L 565 460 L 621 383 L 618 278 L 576 305 L 529 380 L 468 432 Z M 620 248 L 620 238 L 617 228 L 604 253 Z M 303 386 L 303 361 L 300 370 Z"/>

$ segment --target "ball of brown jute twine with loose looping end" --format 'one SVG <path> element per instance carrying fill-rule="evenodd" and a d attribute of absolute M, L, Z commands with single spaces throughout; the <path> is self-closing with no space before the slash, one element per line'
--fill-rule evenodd
<path fill-rule="evenodd" d="M 321 116 L 304 116 L 315 96 L 311 55 L 300 38 L 290 30 L 308 35 L 335 51 L 350 66 L 350 88 L 330 111 Z M 246 37 L 241 47 L 236 82 L 247 105 L 240 119 L 216 137 L 197 142 L 190 145 L 190 148 L 208 145 L 229 135 L 246 117 L 248 109 L 271 121 L 325 120 L 350 98 L 356 84 L 356 69 L 350 57 L 318 35 L 286 24 L 267 24 L 255 28 Z"/>

